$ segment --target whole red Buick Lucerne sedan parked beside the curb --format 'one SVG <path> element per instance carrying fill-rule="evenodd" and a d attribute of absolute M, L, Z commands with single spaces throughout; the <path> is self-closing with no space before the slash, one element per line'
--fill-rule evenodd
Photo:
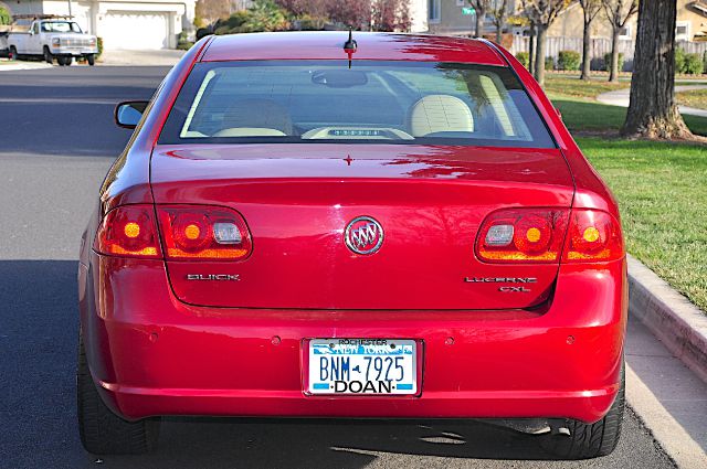
<path fill-rule="evenodd" d="M 78 268 L 78 426 L 165 415 L 489 418 L 564 458 L 624 405 L 616 203 L 483 40 L 209 36 L 108 172 Z"/>

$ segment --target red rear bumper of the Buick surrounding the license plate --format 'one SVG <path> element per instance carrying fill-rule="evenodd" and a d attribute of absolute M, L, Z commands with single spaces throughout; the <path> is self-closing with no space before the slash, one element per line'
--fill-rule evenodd
<path fill-rule="evenodd" d="M 89 367 L 104 401 L 152 415 L 415 418 L 566 417 L 595 422 L 616 395 L 625 263 L 563 266 L 539 311 L 324 311 L 191 307 L 158 260 L 92 254 L 80 267 Z M 307 338 L 422 344 L 418 396 L 303 392 Z"/>

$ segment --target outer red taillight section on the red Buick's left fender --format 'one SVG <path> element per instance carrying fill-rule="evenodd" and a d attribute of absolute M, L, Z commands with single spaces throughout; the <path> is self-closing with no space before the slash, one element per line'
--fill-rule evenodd
<path fill-rule="evenodd" d="M 94 249 L 101 254 L 160 258 L 151 205 L 125 205 L 103 218 Z"/>

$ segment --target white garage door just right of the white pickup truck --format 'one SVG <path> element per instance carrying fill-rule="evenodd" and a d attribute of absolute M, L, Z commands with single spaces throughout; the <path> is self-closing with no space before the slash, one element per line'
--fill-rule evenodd
<path fill-rule="evenodd" d="M 106 50 L 166 49 L 169 46 L 168 13 L 109 11 L 98 35 Z"/>

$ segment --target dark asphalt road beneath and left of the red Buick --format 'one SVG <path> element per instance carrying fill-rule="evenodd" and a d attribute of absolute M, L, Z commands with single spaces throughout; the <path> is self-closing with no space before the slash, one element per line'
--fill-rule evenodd
<path fill-rule="evenodd" d="M 166 68 L 0 72 L 0 468 L 672 468 L 632 412 L 616 451 L 549 461 L 534 437 L 484 423 L 169 418 L 159 449 L 101 461 L 75 423 L 76 256 L 97 188 L 129 131 L 118 100 Z"/>

